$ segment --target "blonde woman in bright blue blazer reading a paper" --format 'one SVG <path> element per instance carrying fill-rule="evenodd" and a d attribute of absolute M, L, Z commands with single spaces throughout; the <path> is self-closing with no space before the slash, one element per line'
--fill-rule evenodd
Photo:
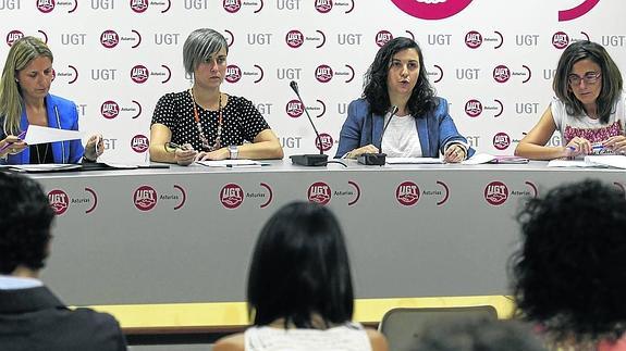
<path fill-rule="evenodd" d="M 24 37 L 13 43 L 0 79 L 0 158 L 9 164 L 95 162 L 102 153 L 99 135 L 85 148 L 81 140 L 27 146 L 20 138 L 29 125 L 78 130 L 76 104 L 49 93 L 52 52 L 41 40 Z"/>

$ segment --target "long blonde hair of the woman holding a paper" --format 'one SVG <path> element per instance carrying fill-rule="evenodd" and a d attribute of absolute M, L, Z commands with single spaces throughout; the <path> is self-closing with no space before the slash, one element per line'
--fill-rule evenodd
<path fill-rule="evenodd" d="M 54 61 L 48 46 L 35 37 L 23 37 L 13 42 L 9 50 L 0 78 L 0 117 L 4 118 L 3 127 L 7 135 L 20 133 L 23 99 L 17 84 L 17 72 L 39 57 L 49 58 L 50 62 Z"/>

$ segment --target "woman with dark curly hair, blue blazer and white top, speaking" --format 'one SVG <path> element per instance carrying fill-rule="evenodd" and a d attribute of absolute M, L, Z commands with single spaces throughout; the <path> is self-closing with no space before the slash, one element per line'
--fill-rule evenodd
<path fill-rule="evenodd" d="M 456 130 L 447 101 L 434 96 L 413 39 L 394 38 L 380 48 L 364 86 L 363 97 L 348 105 L 335 158 L 378 153 L 381 146 L 392 158 L 443 153 L 445 162 L 461 162 L 474 153 Z"/>

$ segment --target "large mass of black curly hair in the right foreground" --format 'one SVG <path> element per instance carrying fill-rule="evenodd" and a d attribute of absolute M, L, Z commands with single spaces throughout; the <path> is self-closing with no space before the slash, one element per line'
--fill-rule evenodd
<path fill-rule="evenodd" d="M 559 186 L 520 210 L 512 256 L 517 315 L 560 342 L 626 331 L 626 199 L 599 180 Z"/>

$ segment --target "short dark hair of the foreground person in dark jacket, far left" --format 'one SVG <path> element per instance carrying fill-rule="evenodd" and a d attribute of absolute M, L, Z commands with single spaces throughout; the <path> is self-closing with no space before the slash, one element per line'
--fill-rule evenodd
<path fill-rule="evenodd" d="M 0 274 L 42 268 L 54 212 L 39 184 L 0 172 Z"/>

